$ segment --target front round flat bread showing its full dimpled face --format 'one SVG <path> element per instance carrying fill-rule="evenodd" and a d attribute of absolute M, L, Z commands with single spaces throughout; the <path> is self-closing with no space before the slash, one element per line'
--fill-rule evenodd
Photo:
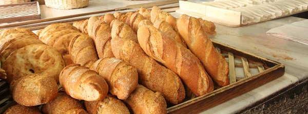
<path fill-rule="evenodd" d="M 32 44 L 12 52 L 1 67 L 6 71 L 9 83 L 35 73 L 50 75 L 59 82 L 59 74 L 65 63 L 61 53 L 54 47 Z"/>

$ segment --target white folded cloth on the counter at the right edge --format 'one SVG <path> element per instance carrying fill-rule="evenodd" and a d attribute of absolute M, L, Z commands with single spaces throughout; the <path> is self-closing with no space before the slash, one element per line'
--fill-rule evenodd
<path fill-rule="evenodd" d="M 308 45 L 308 20 L 276 27 L 266 34 Z"/>

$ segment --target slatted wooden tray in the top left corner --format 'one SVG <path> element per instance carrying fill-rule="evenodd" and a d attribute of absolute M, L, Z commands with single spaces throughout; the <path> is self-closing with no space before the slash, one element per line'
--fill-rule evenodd
<path fill-rule="evenodd" d="M 41 19 L 38 2 L 0 5 L 0 24 Z"/>

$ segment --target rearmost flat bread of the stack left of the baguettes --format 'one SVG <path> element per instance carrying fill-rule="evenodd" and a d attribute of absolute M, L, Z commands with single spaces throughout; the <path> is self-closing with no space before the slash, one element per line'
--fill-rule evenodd
<path fill-rule="evenodd" d="M 44 28 L 42 32 L 40 33 L 40 40 L 45 41 L 49 35 L 53 34 L 54 32 L 65 30 L 65 29 L 73 29 L 76 31 L 79 31 L 76 27 L 70 25 L 70 24 L 65 24 L 65 23 L 57 23 L 57 24 L 51 24 Z"/>

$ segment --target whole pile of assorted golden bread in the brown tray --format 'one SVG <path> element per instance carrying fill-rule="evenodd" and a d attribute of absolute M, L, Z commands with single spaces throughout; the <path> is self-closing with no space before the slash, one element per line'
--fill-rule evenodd
<path fill-rule="evenodd" d="M 202 96 L 214 83 L 229 84 L 228 64 L 207 37 L 215 25 L 158 7 L 52 24 L 38 36 L 0 32 L 0 75 L 23 105 L 18 110 L 43 104 L 43 113 L 166 113 L 189 91 Z"/>

